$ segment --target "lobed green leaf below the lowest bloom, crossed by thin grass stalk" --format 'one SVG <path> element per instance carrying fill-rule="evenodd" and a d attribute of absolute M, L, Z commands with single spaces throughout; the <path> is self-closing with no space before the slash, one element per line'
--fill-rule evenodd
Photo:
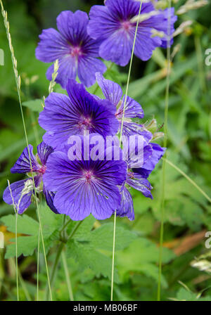
<path fill-rule="evenodd" d="M 113 250 L 113 224 L 102 224 L 92 230 L 94 221 L 96 219 L 90 215 L 82 222 L 74 238 L 67 243 L 67 255 L 75 259 L 80 269 L 90 268 L 96 276 L 101 274 L 110 279 L 112 260 L 111 253 L 108 252 Z M 116 250 L 127 248 L 135 238 L 136 234 L 117 226 Z M 115 271 L 115 282 L 117 281 L 118 276 Z"/>

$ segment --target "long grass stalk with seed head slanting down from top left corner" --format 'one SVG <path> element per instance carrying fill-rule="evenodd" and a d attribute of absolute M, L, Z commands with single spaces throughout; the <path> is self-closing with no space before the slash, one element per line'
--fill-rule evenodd
<path fill-rule="evenodd" d="M 27 143 L 27 150 L 28 150 L 28 154 L 29 154 L 29 158 L 30 158 L 30 167 L 32 169 L 32 160 L 31 160 L 31 156 L 30 156 L 30 150 L 29 150 L 29 143 L 28 143 L 28 138 L 27 138 L 27 131 L 26 131 L 26 127 L 25 127 L 25 118 L 23 115 L 23 108 L 22 108 L 22 102 L 21 102 L 21 93 L 20 93 L 20 75 L 18 75 L 18 69 L 17 69 L 17 60 L 15 58 L 14 55 L 14 49 L 13 49 L 13 45 L 12 45 L 12 41 L 11 41 L 11 34 L 9 32 L 9 23 L 8 23 L 8 18 L 7 18 L 7 12 L 4 11 L 4 6 L 2 1 L 0 0 L 0 4 L 1 4 L 1 14 L 4 18 L 4 25 L 6 28 L 6 36 L 8 39 L 8 44 L 9 44 L 9 48 L 11 51 L 11 59 L 12 59 L 12 63 L 13 63 L 13 71 L 14 71 L 14 75 L 15 75 L 15 83 L 17 86 L 17 91 L 18 91 L 18 101 L 19 101 L 19 105 L 20 105 L 20 113 L 21 113 L 21 117 L 22 117 L 22 121 L 23 121 L 23 129 L 24 129 L 24 134 L 25 134 L 25 140 Z M 48 269 L 48 264 L 47 264 L 47 260 L 46 260 L 46 250 L 45 250 L 45 245 L 44 245 L 44 236 L 42 233 L 42 227 L 41 227 L 41 219 L 40 219 L 40 214 L 39 214 L 39 206 L 38 206 L 38 201 L 37 201 L 37 193 L 36 193 L 36 186 L 34 183 L 34 175 L 32 173 L 32 181 L 33 181 L 33 186 L 34 186 L 34 195 L 35 195 L 35 200 L 36 200 L 36 207 L 37 207 L 37 217 L 39 220 L 39 227 L 40 227 L 40 233 L 41 233 L 41 242 L 42 242 L 42 246 L 43 246 L 43 250 L 44 250 L 44 259 L 45 259 L 45 264 L 46 264 L 46 274 L 47 274 L 47 278 L 48 278 L 48 283 L 49 283 L 49 293 L 51 296 L 51 300 L 52 300 L 52 294 L 51 294 L 51 285 L 50 285 L 50 279 L 49 279 L 49 269 Z"/>

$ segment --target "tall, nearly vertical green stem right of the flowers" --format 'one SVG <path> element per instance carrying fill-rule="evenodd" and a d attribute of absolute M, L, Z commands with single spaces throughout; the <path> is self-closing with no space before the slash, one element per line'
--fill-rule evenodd
<path fill-rule="evenodd" d="M 172 6 L 172 1 L 169 0 L 169 11 Z M 167 79 L 166 79 L 166 89 L 165 89 L 165 119 L 164 119 L 164 141 L 163 146 L 167 147 L 167 123 L 168 123 L 168 110 L 169 110 L 169 96 L 170 96 L 170 68 L 171 68 L 171 49 L 170 49 L 170 25 L 171 25 L 171 15 L 168 15 L 168 26 L 167 26 Z M 159 271 L 158 271 L 158 301 L 160 301 L 161 293 L 161 276 L 162 276 L 162 244 L 163 244 L 163 234 L 164 234 L 164 217 L 165 217 L 165 160 L 162 162 L 162 188 L 161 188 L 161 202 L 160 202 L 160 248 L 159 248 Z"/>

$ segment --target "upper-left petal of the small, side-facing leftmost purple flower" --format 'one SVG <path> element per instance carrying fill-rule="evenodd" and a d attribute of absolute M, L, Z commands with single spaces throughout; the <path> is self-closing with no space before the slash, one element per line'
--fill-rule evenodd
<path fill-rule="evenodd" d="M 30 151 L 30 155 L 29 155 Z M 32 163 L 32 168 L 30 165 L 30 158 Z M 20 158 L 18 158 L 17 162 L 15 162 L 15 165 L 11 168 L 11 173 L 29 173 L 29 172 L 36 172 L 40 168 L 36 158 L 33 154 L 33 147 L 30 144 L 29 150 L 28 148 L 25 148 L 23 150 L 23 153 L 21 153 Z"/>

